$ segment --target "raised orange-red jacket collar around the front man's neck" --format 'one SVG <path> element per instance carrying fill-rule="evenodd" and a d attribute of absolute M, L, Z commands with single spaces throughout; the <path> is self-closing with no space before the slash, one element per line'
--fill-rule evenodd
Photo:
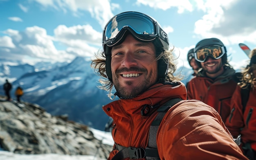
<path fill-rule="evenodd" d="M 133 99 L 119 99 L 108 105 L 103 106 L 103 110 L 111 116 L 111 114 L 126 114 L 140 113 L 144 105 L 156 106 L 166 103 L 172 98 L 186 99 L 186 87 L 182 82 L 177 85 L 157 83 L 151 86 L 146 92 L 140 94 Z M 119 115 L 121 116 L 121 115 Z M 124 116 L 122 114 L 122 116 Z"/>

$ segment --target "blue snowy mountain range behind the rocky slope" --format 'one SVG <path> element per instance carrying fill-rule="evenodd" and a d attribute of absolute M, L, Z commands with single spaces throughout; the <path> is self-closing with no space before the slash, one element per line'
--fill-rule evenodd
<path fill-rule="evenodd" d="M 11 97 L 20 85 L 24 89 L 22 101 L 36 103 L 52 115 L 68 115 L 69 120 L 104 130 L 108 116 L 101 109 L 110 103 L 107 92 L 97 88 L 99 76 L 90 67 L 91 61 L 76 57 L 71 63 L 28 64 L 2 63 L 0 65 L 0 94 L 8 78 L 13 85 Z M 191 79 L 191 68 L 179 68 L 186 84 Z M 117 99 L 117 98 L 116 98 Z"/>

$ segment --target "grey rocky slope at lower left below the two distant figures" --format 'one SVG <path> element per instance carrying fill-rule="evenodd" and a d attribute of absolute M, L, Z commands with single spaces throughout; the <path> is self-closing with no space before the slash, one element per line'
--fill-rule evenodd
<path fill-rule="evenodd" d="M 4 99 L 0 101 L 0 147 L 21 154 L 97 154 L 99 158 L 107 158 L 112 150 L 85 125 L 52 116 L 36 104 Z"/>

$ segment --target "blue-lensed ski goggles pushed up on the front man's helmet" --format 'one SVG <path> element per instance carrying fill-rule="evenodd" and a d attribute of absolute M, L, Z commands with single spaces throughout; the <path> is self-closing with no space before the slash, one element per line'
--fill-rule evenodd
<path fill-rule="evenodd" d="M 121 44 L 129 32 L 138 41 L 169 48 L 168 35 L 156 20 L 143 13 L 129 11 L 115 15 L 106 24 L 102 37 L 104 53 L 110 54 L 108 48 Z"/>

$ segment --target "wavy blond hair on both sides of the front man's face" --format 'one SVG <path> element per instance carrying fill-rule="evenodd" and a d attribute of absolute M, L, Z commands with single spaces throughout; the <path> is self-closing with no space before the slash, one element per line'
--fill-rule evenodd
<path fill-rule="evenodd" d="M 165 81 L 169 82 L 180 81 L 183 78 L 183 75 L 181 73 L 173 75 L 173 73 L 177 69 L 175 64 L 175 57 L 172 53 L 173 49 L 164 50 L 164 52 L 160 53 L 159 56 L 157 56 L 157 58 L 155 59 L 157 61 L 162 58 L 164 59 L 165 63 L 168 64 L 168 73 Z M 111 97 L 113 96 L 112 89 L 114 84 L 108 79 L 108 76 L 106 74 L 106 55 L 103 51 L 99 50 L 97 53 L 95 53 L 95 58 L 92 59 L 91 67 L 94 68 L 94 71 L 100 76 L 99 82 L 101 83 L 101 85 L 97 87 L 102 90 L 109 91 L 108 97 L 111 99 Z"/>

